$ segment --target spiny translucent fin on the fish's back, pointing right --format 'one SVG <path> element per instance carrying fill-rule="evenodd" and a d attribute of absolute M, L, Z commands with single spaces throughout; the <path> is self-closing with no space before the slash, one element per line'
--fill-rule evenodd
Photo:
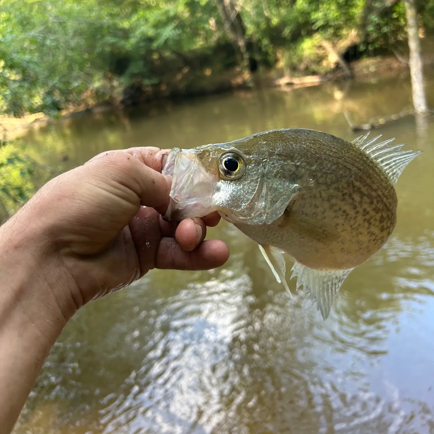
<path fill-rule="evenodd" d="M 365 154 L 369 155 L 387 174 L 392 184 L 396 184 L 405 166 L 413 160 L 420 151 L 401 151 L 401 145 L 388 146 L 395 138 L 377 142 L 381 137 L 378 135 L 368 141 L 369 133 L 355 138 L 351 143 L 358 146 Z"/>

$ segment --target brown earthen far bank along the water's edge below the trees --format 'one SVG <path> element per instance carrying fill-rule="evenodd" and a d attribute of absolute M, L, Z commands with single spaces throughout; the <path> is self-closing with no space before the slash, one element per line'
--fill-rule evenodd
<path fill-rule="evenodd" d="M 424 64 L 434 63 L 434 56 L 425 56 Z M 356 82 L 378 82 L 392 77 L 404 77 L 409 75 L 408 65 L 405 59 L 398 59 L 396 56 L 377 56 L 368 59 L 360 59 L 349 64 L 352 72 L 352 80 Z M 206 76 L 207 71 L 204 72 Z M 210 74 L 209 74 L 210 75 Z M 210 77 L 204 80 L 201 85 L 191 93 L 170 92 L 170 89 L 162 89 L 158 95 L 150 95 L 149 92 L 136 99 L 124 98 L 114 103 L 92 104 L 92 102 L 82 102 L 80 105 L 70 107 L 59 113 L 60 118 L 81 116 L 87 113 L 105 112 L 112 109 L 122 109 L 134 103 L 146 103 L 161 99 L 174 98 L 194 98 L 198 95 L 213 94 L 218 92 L 229 92 L 235 89 L 252 89 L 260 85 L 261 87 L 274 87 L 282 91 L 290 91 L 299 87 L 315 86 L 327 81 L 339 81 L 345 79 L 341 70 L 336 70 L 327 75 L 315 75 L 304 77 L 282 76 L 282 72 L 277 70 L 265 71 L 260 74 L 250 76 L 241 71 L 241 68 L 233 68 L 220 77 Z M 21 118 L 13 116 L 0 116 L 0 129 L 3 138 L 13 140 L 23 136 L 29 128 L 43 128 L 50 122 L 56 122 L 53 118 L 43 113 L 28 114 Z"/>

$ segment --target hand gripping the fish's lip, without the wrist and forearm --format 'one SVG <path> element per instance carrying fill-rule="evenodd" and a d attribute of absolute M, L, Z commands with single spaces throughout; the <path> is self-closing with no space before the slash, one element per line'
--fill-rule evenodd
<path fill-rule="evenodd" d="M 46 254 L 59 259 L 68 289 L 52 291 L 66 318 L 153 268 L 204 270 L 226 262 L 223 241 L 202 242 L 217 213 L 179 224 L 161 218 L 169 203 L 170 178 L 161 174 L 167 154 L 104 152 L 49 181 L 14 217 L 18 228 L 33 222 Z"/>

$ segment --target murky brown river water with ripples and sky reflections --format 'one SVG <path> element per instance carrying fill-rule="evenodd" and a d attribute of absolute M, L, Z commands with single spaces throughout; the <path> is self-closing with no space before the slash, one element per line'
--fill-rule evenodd
<path fill-rule="evenodd" d="M 25 141 L 44 164 L 68 168 L 106 149 L 274 128 L 352 140 L 344 110 L 367 122 L 410 95 L 408 77 L 243 91 L 63 119 Z M 81 309 L 15 434 L 434 433 L 434 123 L 423 131 L 408 117 L 377 134 L 423 154 L 398 181 L 390 240 L 345 280 L 327 321 L 302 292 L 289 299 L 256 244 L 221 222 L 208 238 L 228 243 L 225 266 L 153 270 Z"/>

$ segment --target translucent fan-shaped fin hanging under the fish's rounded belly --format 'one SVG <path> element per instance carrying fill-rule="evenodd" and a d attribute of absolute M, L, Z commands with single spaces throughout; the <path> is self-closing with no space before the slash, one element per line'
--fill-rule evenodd
<path fill-rule="evenodd" d="M 353 268 L 349 270 L 314 270 L 295 262 L 292 270 L 291 279 L 297 276 L 296 289 L 303 286 L 305 294 L 310 294 L 312 304 L 316 302 L 316 308 L 321 311 L 322 318 L 327 319 L 336 294 Z"/>

